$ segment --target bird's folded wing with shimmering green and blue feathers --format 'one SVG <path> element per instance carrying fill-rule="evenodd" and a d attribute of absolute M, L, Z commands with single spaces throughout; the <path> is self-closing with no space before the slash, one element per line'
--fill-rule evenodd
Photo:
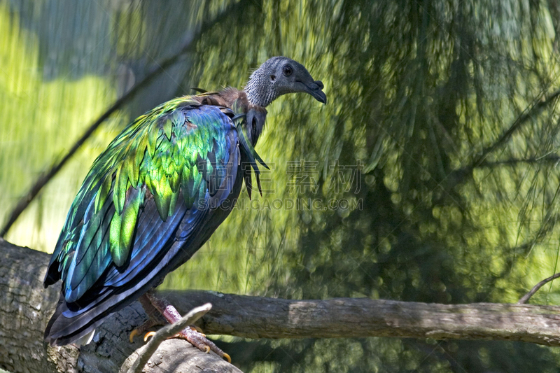
<path fill-rule="evenodd" d="M 79 314 L 97 303 L 85 299 L 94 298 L 90 294 L 83 297 L 87 290 L 97 288 L 103 295 L 108 287 L 134 286 L 169 250 L 180 224 L 182 239 L 197 231 L 209 199 L 219 205 L 237 175 L 232 116 L 227 108 L 183 98 L 127 127 L 87 174 L 45 286 L 62 279 L 64 300 L 79 304 L 72 307 Z"/>

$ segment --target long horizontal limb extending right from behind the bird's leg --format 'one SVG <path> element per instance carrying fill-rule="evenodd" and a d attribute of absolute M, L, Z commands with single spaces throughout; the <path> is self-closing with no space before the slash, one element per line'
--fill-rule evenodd
<path fill-rule="evenodd" d="M 433 304 L 335 298 L 281 300 L 204 292 L 161 293 L 184 312 L 211 302 L 198 326 L 207 334 L 248 338 L 402 337 L 494 339 L 560 346 L 560 307 Z"/>

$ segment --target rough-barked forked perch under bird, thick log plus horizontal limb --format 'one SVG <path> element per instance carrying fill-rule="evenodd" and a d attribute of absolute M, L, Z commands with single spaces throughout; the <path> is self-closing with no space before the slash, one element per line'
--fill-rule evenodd
<path fill-rule="evenodd" d="M 50 348 L 43 330 L 58 298 L 43 289 L 49 255 L 0 239 L 0 367 L 11 372 L 118 372 L 137 357 L 128 334 L 146 315 L 139 303 L 111 316 L 81 349 Z M 407 337 L 496 339 L 560 346 L 560 307 L 527 304 L 426 304 L 339 298 L 281 300 L 209 292 L 164 292 L 185 314 L 210 302 L 207 334 L 250 338 Z M 235 356 L 232 356 L 235 363 Z M 123 364 L 124 363 L 124 364 Z M 183 365 L 181 365 L 183 364 Z M 181 369 L 179 369 L 179 365 Z M 239 372 L 188 342 L 164 342 L 145 372 Z M 228 370 L 229 369 L 229 370 Z"/>

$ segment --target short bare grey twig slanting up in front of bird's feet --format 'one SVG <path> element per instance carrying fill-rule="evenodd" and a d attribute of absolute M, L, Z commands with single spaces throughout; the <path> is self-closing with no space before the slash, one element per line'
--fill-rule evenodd
<path fill-rule="evenodd" d="M 127 373 L 141 373 L 146 363 L 148 363 L 148 360 L 150 360 L 153 353 L 155 353 L 155 351 L 158 349 L 160 344 L 165 341 L 165 339 L 173 337 L 177 333 L 181 332 L 181 330 L 188 327 L 188 325 L 192 325 L 193 323 L 195 323 L 199 318 L 207 314 L 207 312 L 210 311 L 211 308 L 212 305 L 210 303 L 203 304 L 200 307 L 196 307 L 190 310 L 188 314 L 183 316 L 183 318 L 181 318 L 181 320 L 177 321 L 176 323 L 167 325 L 164 328 L 158 330 L 158 332 L 155 333 L 152 339 L 150 339 L 150 342 L 146 344 L 144 350 L 142 350 L 138 354 L 138 358 L 134 361 L 134 364 L 132 364 L 132 367 L 130 367 Z"/>

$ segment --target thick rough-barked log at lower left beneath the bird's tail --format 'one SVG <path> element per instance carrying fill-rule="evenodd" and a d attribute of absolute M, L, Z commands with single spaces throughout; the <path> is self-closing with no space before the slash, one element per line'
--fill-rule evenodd
<path fill-rule="evenodd" d="M 0 239 L 0 257 L 0 368 L 13 373 L 127 372 L 145 349 L 142 338 L 134 344 L 128 341 L 130 332 L 148 318 L 139 302 L 111 316 L 87 346 L 48 346 L 43 332 L 60 291 L 59 286 L 43 288 L 50 255 Z M 163 342 L 144 372 L 200 372 L 199 367 L 207 372 L 241 372 L 181 339 Z"/>

